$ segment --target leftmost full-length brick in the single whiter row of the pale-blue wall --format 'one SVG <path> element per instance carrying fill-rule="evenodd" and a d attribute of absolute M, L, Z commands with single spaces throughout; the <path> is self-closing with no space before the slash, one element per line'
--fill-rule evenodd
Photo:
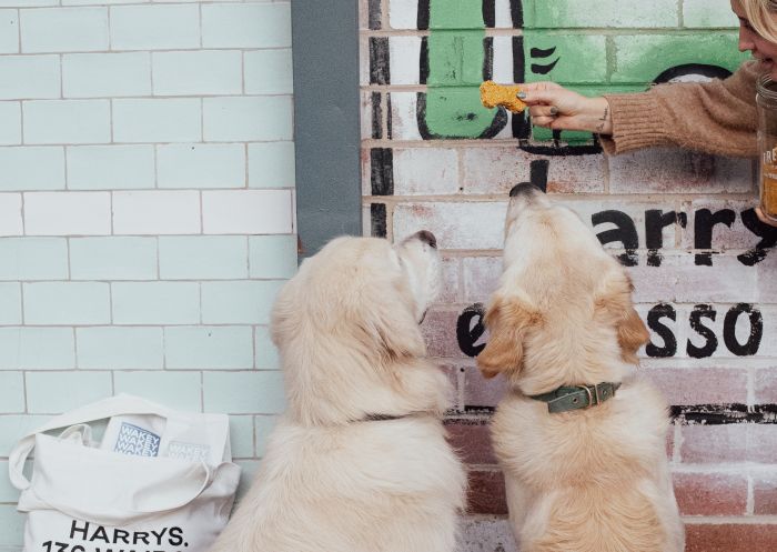
<path fill-rule="evenodd" d="M 28 235 L 107 235 L 111 233 L 111 195 L 107 192 L 28 192 Z"/>

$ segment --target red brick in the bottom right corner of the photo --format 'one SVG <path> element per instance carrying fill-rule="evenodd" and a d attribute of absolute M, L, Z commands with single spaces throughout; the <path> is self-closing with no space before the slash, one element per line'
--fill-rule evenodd
<path fill-rule="evenodd" d="M 768 552 L 777 549 L 777 525 L 686 524 L 685 552 Z"/>

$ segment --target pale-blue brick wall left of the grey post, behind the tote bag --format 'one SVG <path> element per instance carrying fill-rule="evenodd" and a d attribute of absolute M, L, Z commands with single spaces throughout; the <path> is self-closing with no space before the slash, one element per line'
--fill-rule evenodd
<path fill-rule="evenodd" d="M 289 1 L 0 0 L 0 550 L 14 441 L 112 393 L 233 414 L 254 470 L 293 149 Z"/>

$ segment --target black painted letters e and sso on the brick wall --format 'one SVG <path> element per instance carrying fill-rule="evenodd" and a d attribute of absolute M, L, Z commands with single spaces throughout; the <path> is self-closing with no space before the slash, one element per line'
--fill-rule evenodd
<path fill-rule="evenodd" d="M 458 348 L 467 357 L 477 357 L 485 348 L 485 327 L 483 317 L 485 308 L 482 303 L 467 307 L 458 315 L 456 322 L 456 339 Z M 688 325 L 695 335 L 685 343 L 685 353 L 692 359 L 706 359 L 718 350 L 720 339 L 706 320 L 715 322 L 718 311 L 709 304 L 697 304 L 688 315 Z M 749 324 L 747 338 L 737 337 L 739 323 Z M 647 327 L 653 331 L 650 342 L 645 347 L 645 354 L 650 358 L 668 358 L 677 355 L 678 344 L 675 331 L 665 322 L 677 322 L 677 310 L 668 303 L 658 303 L 647 313 Z M 758 309 L 749 303 L 739 303 L 729 308 L 723 321 L 723 343 L 726 349 L 737 357 L 753 357 L 758 353 L 764 338 L 764 318 Z M 656 343 L 658 341 L 658 343 Z M 698 344 L 700 341 L 700 344 Z"/>

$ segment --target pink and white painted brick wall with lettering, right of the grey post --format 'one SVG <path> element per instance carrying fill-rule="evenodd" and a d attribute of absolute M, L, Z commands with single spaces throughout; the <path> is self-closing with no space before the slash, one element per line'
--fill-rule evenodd
<path fill-rule="evenodd" d="M 629 267 L 653 335 L 643 371 L 673 405 L 688 550 L 777 545 L 777 232 L 754 218 L 753 164 L 679 150 L 607 159 L 589 134 L 533 131 L 477 93 L 486 78 L 601 93 L 725 76 L 746 58 L 736 24 L 727 0 L 362 0 L 364 232 L 427 228 L 445 257 L 424 330 L 457 387 L 465 550 L 514 550 L 487 435 L 504 384 L 483 380 L 474 357 L 505 198 L 522 181 L 576 210 Z"/>

